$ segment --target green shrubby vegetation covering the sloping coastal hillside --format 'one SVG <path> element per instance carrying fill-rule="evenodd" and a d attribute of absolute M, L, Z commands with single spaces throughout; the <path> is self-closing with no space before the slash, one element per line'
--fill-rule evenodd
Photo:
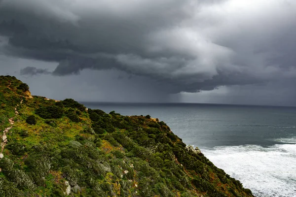
<path fill-rule="evenodd" d="M 31 97 L 22 84 L 0 76 L 1 131 L 14 118 L 1 197 L 253 197 L 158 119 Z"/>

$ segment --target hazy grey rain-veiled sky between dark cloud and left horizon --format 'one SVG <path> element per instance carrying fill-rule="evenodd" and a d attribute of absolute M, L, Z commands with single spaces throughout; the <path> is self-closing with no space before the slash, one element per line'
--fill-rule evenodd
<path fill-rule="evenodd" d="M 16 76 L 30 86 L 33 95 L 45 96 L 52 99 L 73 98 L 78 101 L 109 101 L 109 102 L 168 102 L 172 98 L 166 91 L 155 89 L 160 84 L 148 77 L 133 76 L 126 72 L 109 70 L 84 69 L 79 75 L 55 76 L 55 75 L 20 75 L 15 73 L 22 65 L 32 65 L 37 68 L 47 68 L 51 71 L 53 63 L 19 59 L 13 57 L 1 57 L 0 63 L 7 65 L 1 73 Z M 16 64 L 18 63 L 18 64 Z M 118 79 L 118 76 L 122 78 Z M 169 89 L 167 87 L 166 89 Z M 178 101 L 175 98 L 174 101 Z"/>

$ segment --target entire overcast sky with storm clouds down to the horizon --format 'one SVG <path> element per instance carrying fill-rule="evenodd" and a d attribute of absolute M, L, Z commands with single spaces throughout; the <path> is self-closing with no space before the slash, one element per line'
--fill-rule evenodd
<path fill-rule="evenodd" d="M 296 1 L 0 0 L 0 74 L 52 99 L 296 105 Z"/>

